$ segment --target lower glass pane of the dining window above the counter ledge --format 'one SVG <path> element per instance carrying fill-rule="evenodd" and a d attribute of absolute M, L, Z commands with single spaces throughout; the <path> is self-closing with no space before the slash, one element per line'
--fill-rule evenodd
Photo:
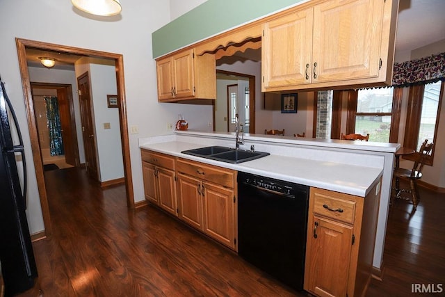
<path fill-rule="evenodd" d="M 355 117 L 355 133 L 369 134 L 369 141 L 389 143 L 390 127 L 390 115 L 357 115 Z"/>

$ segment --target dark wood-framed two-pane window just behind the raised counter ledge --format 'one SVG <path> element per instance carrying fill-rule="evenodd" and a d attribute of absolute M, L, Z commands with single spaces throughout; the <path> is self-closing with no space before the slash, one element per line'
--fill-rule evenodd
<path fill-rule="evenodd" d="M 396 143 L 401 89 L 370 88 L 349 91 L 346 134 L 369 134 L 369 141 Z"/>

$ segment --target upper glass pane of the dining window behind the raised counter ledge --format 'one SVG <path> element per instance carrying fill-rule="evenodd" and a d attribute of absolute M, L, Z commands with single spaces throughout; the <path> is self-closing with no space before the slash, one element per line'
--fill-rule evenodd
<path fill-rule="evenodd" d="M 394 88 L 359 90 L 357 113 L 390 113 Z"/>

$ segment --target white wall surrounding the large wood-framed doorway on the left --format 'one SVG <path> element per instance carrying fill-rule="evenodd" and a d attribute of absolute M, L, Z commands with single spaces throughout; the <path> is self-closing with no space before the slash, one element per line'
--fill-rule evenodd
<path fill-rule="evenodd" d="M 138 138 L 171 134 L 167 124 L 175 124 L 179 113 L 188 120 L 189 129 L 208 129 L 207 123 L 211 122 L 211 106 L 157 102 L 156 63 L 152 58 L 151 33 L 170 22 L 170 2 L 133 0 L 122 3 L 122 6 L 121 15 L 105 19 L 79 13 L 70 1 L 0 1 L 0 24 L 3 28 L 0 31 L 0 74 L 15 107 L 28 156 L 29 194 L 26 214 L 32 234 L 44 230 L 44 225 L 15 38 L 123 55 L 128 124 L 139 128 L 139 134 L 129 136 L 136 202 L 144 200 Z M 183 11 L 178 10 L 178 14 L 188 10 L 186 3 L 181 8 Z"/>

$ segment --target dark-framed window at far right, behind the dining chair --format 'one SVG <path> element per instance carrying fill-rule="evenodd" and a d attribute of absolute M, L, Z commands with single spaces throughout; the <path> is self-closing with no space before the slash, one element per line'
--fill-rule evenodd
<path fill-rule="evenodd" d="M 428 143 L 435 142 L 443 96 L 443 81 L 410 87 L 403 146 L 419 151 L 426 139 Z M 434 148 L 427 160 L 428 165 L 432 165 L 433 157 Z M 406 156 L 406 159 L 410 157 Z"/>

